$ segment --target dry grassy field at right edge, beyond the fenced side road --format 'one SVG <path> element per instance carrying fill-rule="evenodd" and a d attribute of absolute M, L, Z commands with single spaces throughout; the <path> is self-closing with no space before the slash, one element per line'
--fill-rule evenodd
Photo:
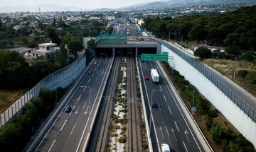
<path fill-rule="evenodd" d="M 247 90 L 250 94 L 256 97 L 256 64 L 243 60 L 238 60 L 235 71 L 235 80 L 233 80 L 235 61 L 226 59 L 205 59 L 203 63 L 220 72 L 231 81 L 234 81 L 239 86 Z M 240 71 L 247 71 L 245 76 L 239 76 Z"/>

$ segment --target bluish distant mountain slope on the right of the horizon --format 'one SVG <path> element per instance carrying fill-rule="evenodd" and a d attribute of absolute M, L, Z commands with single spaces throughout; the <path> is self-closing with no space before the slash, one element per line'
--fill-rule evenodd
<path fill-rule="evenodd" d="M 119 9 L 136 10 L 136 9 L 150 9 L 150 8 L 170 8 L 174 6 L 188 6 L 200 4 L 233 4 L 233 3 L 250 3 L 256 4 L 255 0 L 169 0 L 156 1 L 145 4 L 137 4 L 133 6 L 122 7 Z"/>

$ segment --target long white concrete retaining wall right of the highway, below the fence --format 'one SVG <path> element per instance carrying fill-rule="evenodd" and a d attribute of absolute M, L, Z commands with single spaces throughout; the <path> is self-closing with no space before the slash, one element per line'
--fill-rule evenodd
<path fill-rule="evenodd" d="M 256 147 L 256 123 L 245 112 L 233 103 L 211 81 L 196 70 L 191 64 L 179 57 L 164 45 L 161 52 L 169 52 L 169 65 L 180 72 L 186 80 L 195 86 L 227 119 L 231 122 L 246 139 Z"/>

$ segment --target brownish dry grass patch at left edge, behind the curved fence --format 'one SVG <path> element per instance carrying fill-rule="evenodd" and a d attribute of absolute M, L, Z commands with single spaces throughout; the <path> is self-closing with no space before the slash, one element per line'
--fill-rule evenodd
<path fill-rule="evenodd" d="M 0 114 L 7 110 L 13 103 L 21 98 L 28 91 L 28 88 L 21 90 L 0 90 Z"/>

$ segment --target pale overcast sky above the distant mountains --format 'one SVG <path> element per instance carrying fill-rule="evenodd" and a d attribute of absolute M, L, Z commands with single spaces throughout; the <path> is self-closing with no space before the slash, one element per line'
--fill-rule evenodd
<path fill-rule="evenodd" d="M 85 8 L 118 8 L 161 0 L 0 0 L 0 6 L 33 6 L 35 4 L 57 4 Z"/>

